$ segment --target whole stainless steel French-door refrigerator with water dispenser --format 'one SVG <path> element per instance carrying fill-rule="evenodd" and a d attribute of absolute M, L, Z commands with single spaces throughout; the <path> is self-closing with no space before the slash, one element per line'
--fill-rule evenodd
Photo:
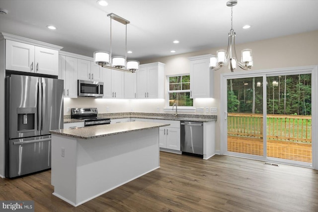
<path fill-rule="evenodd" d="M 63 89 L 61 79 L 6 77 L 6 177 L 51 168 L 49 131 L 63 129 Z"/>

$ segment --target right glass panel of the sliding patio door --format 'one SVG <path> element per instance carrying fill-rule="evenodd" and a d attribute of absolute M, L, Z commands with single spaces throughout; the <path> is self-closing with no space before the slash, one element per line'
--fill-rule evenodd
<path fill-rule="evenodd" d="M 312 162 L 311 74 L 268 76 L 267 156 Z"/>

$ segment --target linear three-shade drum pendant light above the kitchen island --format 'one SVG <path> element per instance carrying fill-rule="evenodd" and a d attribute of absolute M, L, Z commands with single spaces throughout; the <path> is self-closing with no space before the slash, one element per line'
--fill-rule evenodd
<path fill-rule="evenodd" d="M 135 72 L 139 69 L 138 61 L 127 61 L 127 24 L 130 21 L 114 14 L 110 13 L 107 16 L 110 17 L 110 53 L 105 51 L 96 51 L 94 52 L 94 62 L 101 67 L 118 70 L 118 71 L 128 71 Z M 125 57 L 116 56 L 112 57 L 112 49 L 111 49 L 111 41 L 112 41 L 112 33 L 111 33 L 111 22 L 112 19 L 124 24 L 126 26 L 126 40 L 125 40 Z"/>

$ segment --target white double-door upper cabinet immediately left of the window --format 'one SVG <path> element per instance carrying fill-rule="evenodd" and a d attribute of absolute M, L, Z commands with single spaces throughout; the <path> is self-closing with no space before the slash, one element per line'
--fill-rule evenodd
<path fill-rule="evenodd" d="M 137 98 L 164 98 L 164 64 L 140 65 L 137 73 Z"/>

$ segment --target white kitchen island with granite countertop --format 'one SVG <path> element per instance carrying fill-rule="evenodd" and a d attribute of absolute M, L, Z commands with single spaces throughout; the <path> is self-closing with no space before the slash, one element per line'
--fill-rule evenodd
<path fill-rule="evenodd" d="M 53 195 L 79 206 L 159 168 L 159 127 L 127 122 L 50 131 Z"/>

